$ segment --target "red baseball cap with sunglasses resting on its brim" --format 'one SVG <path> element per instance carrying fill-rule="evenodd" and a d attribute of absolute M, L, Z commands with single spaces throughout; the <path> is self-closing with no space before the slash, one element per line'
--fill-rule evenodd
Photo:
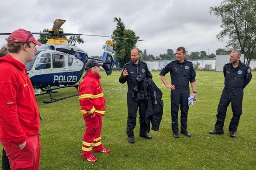
<path fill-rule="evenodd" d="M 34 42 L 37 45 L 42 45 L 41 42 L 38 42 L 33 36 L 32 32 L 19 29 L 13 31 L 9 37 L 13 37 L 14 40 L 7 41 L 7 43 L 15 43 L 15 42 Z"/>

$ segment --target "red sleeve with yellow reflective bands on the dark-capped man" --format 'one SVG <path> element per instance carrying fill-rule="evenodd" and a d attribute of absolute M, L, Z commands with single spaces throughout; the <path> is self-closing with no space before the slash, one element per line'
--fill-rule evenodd
<path fill-rule="evenodd" d="M 94 85 L 92 83 L 82 84 L 79 87 L 79 102 L 80 109 L 83 114 L 83 117 L 88 116 L 95 112 L 95 107 L 93 104 L 93 91 Z"/>

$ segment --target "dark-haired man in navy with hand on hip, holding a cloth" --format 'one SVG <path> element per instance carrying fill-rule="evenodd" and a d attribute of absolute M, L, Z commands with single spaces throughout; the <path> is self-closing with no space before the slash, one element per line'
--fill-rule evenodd
<path fill-rule="evenodd" d="M 179 47 L 176 50 L 176 61 L 172 61 L 161 71 L 160 78 L 164 85 L 171 89 L 171 115 L 173 137 L 179 138 L 178 112 L 180 106 L 180 133 L 191 137 L 187 132 L 187 114 L 188 114 L 188 97 L 196 97 L 196 72 L 193 64 L 186 61 L 186 49 Z M 168 84 L 165 78 L 167 73 L 171 74 L 172 84 Z M 191 83 L 192 93 L 189 94 L 189 82 Z"/>

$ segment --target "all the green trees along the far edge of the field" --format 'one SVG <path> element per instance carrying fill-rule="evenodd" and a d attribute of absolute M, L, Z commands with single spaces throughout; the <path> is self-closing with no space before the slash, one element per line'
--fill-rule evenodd
<path fill-rule="evenodd" d="M 240 49 L 244 54 L 244 61 L 250 65 L 251 60 L 256 60 L 256 0 L 223 0 L 219 6 L 210 7 L 210 15 L 215 15 L 221 19 L 220 25 L 222 30 L 218 33 L 217 39 L 223 41 L 224 37 L 229 40 L 225 49 L 217 49 L 216 55 L 230 54 L 231 49 Z M 119 64 L 122 67 L 130 61 L 130 50 L 136 47 L 137 40 L 135 32 L 125 28 L 122 18 L 114 18 L 116 28 L 112 33 L 115 37 L 132 38 L 134 40 L 124 40 L 112 38 L 114 42 L 113 54 L 119 59 Z M 47 32 L 45 29 L 43 32 Z M 39 41 L 45 43 L 47 38 L 40 36 Z M 70 45 L 76 45 L 76 42 L 83 43 L 80 36 L 71 36 L 69 38 Z M 104 47 L 103 47 L 104 48 Z M 215 54 L 206 54 L 205 51 L 187 52 L 186 58 L 189 60 L 198 60 L 204 58 L 215 58 Z M 97 56 L 98 57 L 98 56 Z M 173 49 L 167 49 L 166 53 L 154 56 L 147 54 L 146 49 L 141 51 L 141 60 L 174 60 L 175 53 Z"/>

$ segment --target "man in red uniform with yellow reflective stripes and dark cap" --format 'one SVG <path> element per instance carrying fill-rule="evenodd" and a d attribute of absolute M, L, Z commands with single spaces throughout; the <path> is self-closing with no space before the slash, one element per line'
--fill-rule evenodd
<path fill-rule="evenodd" d="M 79 85 L 80 109 L 85 121 L 83 134 L 82 153 L 83 158 L 90 162 L 96 162 L 94 152 L 109 153 L 110 149 L 104 148 L 101 142 L 102 116 L 105 114 L 105 98 L 100 84 L 100 66 L 95 60 L 86 63 L 86 75 Z"/>

